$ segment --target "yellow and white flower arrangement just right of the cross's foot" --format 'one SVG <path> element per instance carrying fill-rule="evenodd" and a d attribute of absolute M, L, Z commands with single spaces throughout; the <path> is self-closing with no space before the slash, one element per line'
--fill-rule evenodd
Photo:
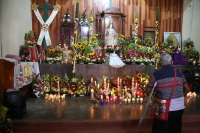
<path fill-rule="evenodd" d="M 61 63 L 63 59 L 63 50 L 60 46 L 50 46 L 46 51 L 46 61 L 49 63 Z"/>

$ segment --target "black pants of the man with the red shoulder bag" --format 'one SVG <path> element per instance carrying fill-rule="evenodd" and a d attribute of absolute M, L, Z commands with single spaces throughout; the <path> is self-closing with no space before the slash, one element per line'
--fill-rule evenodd
<path fill-rule="evenodd" d="M 181 133 L 184 109 L 170 111 L 167 121 L 153 119 L 152 133 Z"/>

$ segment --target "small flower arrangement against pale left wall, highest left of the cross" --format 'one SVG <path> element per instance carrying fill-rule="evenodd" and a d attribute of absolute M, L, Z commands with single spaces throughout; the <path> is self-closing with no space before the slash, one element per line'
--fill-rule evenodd
<path fill-rule="evenodd" d="M 34 32 L 32 30 L 29 30 L 28 33 L 25 33 L 24 39 L 25 39 L 25 44 L 27 46 L 36 45 L 35 35 L 34 35 Z"/>

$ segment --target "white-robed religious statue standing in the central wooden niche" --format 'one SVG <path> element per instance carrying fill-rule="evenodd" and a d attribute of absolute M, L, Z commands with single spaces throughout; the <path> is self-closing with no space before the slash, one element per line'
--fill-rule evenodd
<path fill-rule="evenodd" d="M 119 35 L 114 29 L 112 19 L 109 21 L 109 26 L 105 31 L 105 43 L 114 47 L 117 45 Z"/>

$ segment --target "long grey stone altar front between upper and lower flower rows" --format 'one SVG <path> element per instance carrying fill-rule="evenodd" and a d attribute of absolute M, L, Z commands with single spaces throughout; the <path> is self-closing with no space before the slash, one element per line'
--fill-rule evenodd
<path fill-rule="evenodd" d="M 90 80 L 93 75 L 99 81 L 103 76 L 107 76 L 110 79 L 119 77 L 124 78 L 126 75 L 133 76 L 138 72 L 143 73 L 146 65 L 125 65 L 121 68 L 114 68 L 107 64 L 76 64 L 76 77 L 84 77 L 87 81 Z M 65 73 L 71 77 L 73 65 L 72 64 L 40 64 L 40 75 L 49 74 L 50 77 L 57 75 L 64 77 Z M 155 71 L 153 65 L 149 66 L 147 74 L 152 75 Z"/>

